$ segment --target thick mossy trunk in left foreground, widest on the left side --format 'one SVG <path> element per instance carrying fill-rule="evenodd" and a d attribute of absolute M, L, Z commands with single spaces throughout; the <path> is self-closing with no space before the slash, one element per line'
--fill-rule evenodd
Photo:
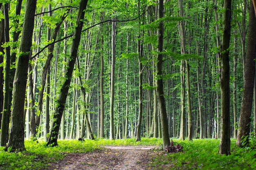
<path fill-rule="evenodd" d="M 11 111 L 11 127 L 7 147 L 12 150 L 25 150 L 24 146 L 24 102 L 27 85 L 27 70 L 29 64 L 32 35 L 34 29 L 34 14 L 36 0 L 27 0 L 20 40 L 19 55 L 13 82 L 13 102 Z"/>

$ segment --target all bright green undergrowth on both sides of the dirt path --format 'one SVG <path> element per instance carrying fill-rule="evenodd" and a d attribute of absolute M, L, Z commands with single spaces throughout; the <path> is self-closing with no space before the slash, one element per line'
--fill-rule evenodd
<path fill-rule="evenodd" d="M 250 170 L 256 168 L 256 150 L 252 147 L 237 148 L 235 140 L 231 140 L 231 155 L 219 155 L 218 139 L 193 139 L 174 143 L 181 144 L 183 152 L 166 154 L 164 151 L 155 154 L 149 165 L 150 169 L 172 170 Z M 46 147 L 43 141 L 25 141 L 26 152 L 5 152 L 0 147 L 0 170 L 36 170 L 45 168 L 49 162 L 62 159 L 69 152 L 90 152 L 101 146 L 149 145 L 161 146 L 162 139 L 142 138 L 126 140 L 60 140 L 57 147 Z M 152 151 L 153 152 L 153 151 Z"/>

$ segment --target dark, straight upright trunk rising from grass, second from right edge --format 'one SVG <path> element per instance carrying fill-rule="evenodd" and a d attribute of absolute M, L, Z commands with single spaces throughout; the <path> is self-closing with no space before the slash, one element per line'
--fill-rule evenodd
<path fill-rule="evenodd" d="M 224 9 L 222 45 L 220 49 L 222 69 L 220 75 L 222 131 L 218 153 L 230 155 L 229 41 L 231 29 L 231 0 L 224 0 Z"/>

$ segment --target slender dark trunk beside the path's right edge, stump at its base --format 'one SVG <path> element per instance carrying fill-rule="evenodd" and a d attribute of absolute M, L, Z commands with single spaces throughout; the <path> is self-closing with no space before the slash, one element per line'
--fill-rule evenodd
<path fill-rule="evenodd" d="M 159 0 L 158 7 L 158 20 L 164 17 L 164 1 Z M 161 115 L 161 128 L 163 138 L 163 149 L 171 144 L 168 130 L 168 119 L 166 113 L 165 99 L 164 99 L 164 87 L 162 79 L 162 63 L 163 63 L 163 41 L 164 41 L 164 24 L 160 21 L 159 27 L 157 28 L 157 99 L 159 104 L 159 111 Z"/>

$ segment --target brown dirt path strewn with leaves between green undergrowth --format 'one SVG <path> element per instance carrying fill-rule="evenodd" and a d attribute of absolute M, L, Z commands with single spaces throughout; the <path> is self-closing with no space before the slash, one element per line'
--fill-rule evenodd
<path fill-rule="evenodd" d="M 88 153 L 69 153 L 48 170 L 146 170 L 155 146 L 106 146 Z"/>

